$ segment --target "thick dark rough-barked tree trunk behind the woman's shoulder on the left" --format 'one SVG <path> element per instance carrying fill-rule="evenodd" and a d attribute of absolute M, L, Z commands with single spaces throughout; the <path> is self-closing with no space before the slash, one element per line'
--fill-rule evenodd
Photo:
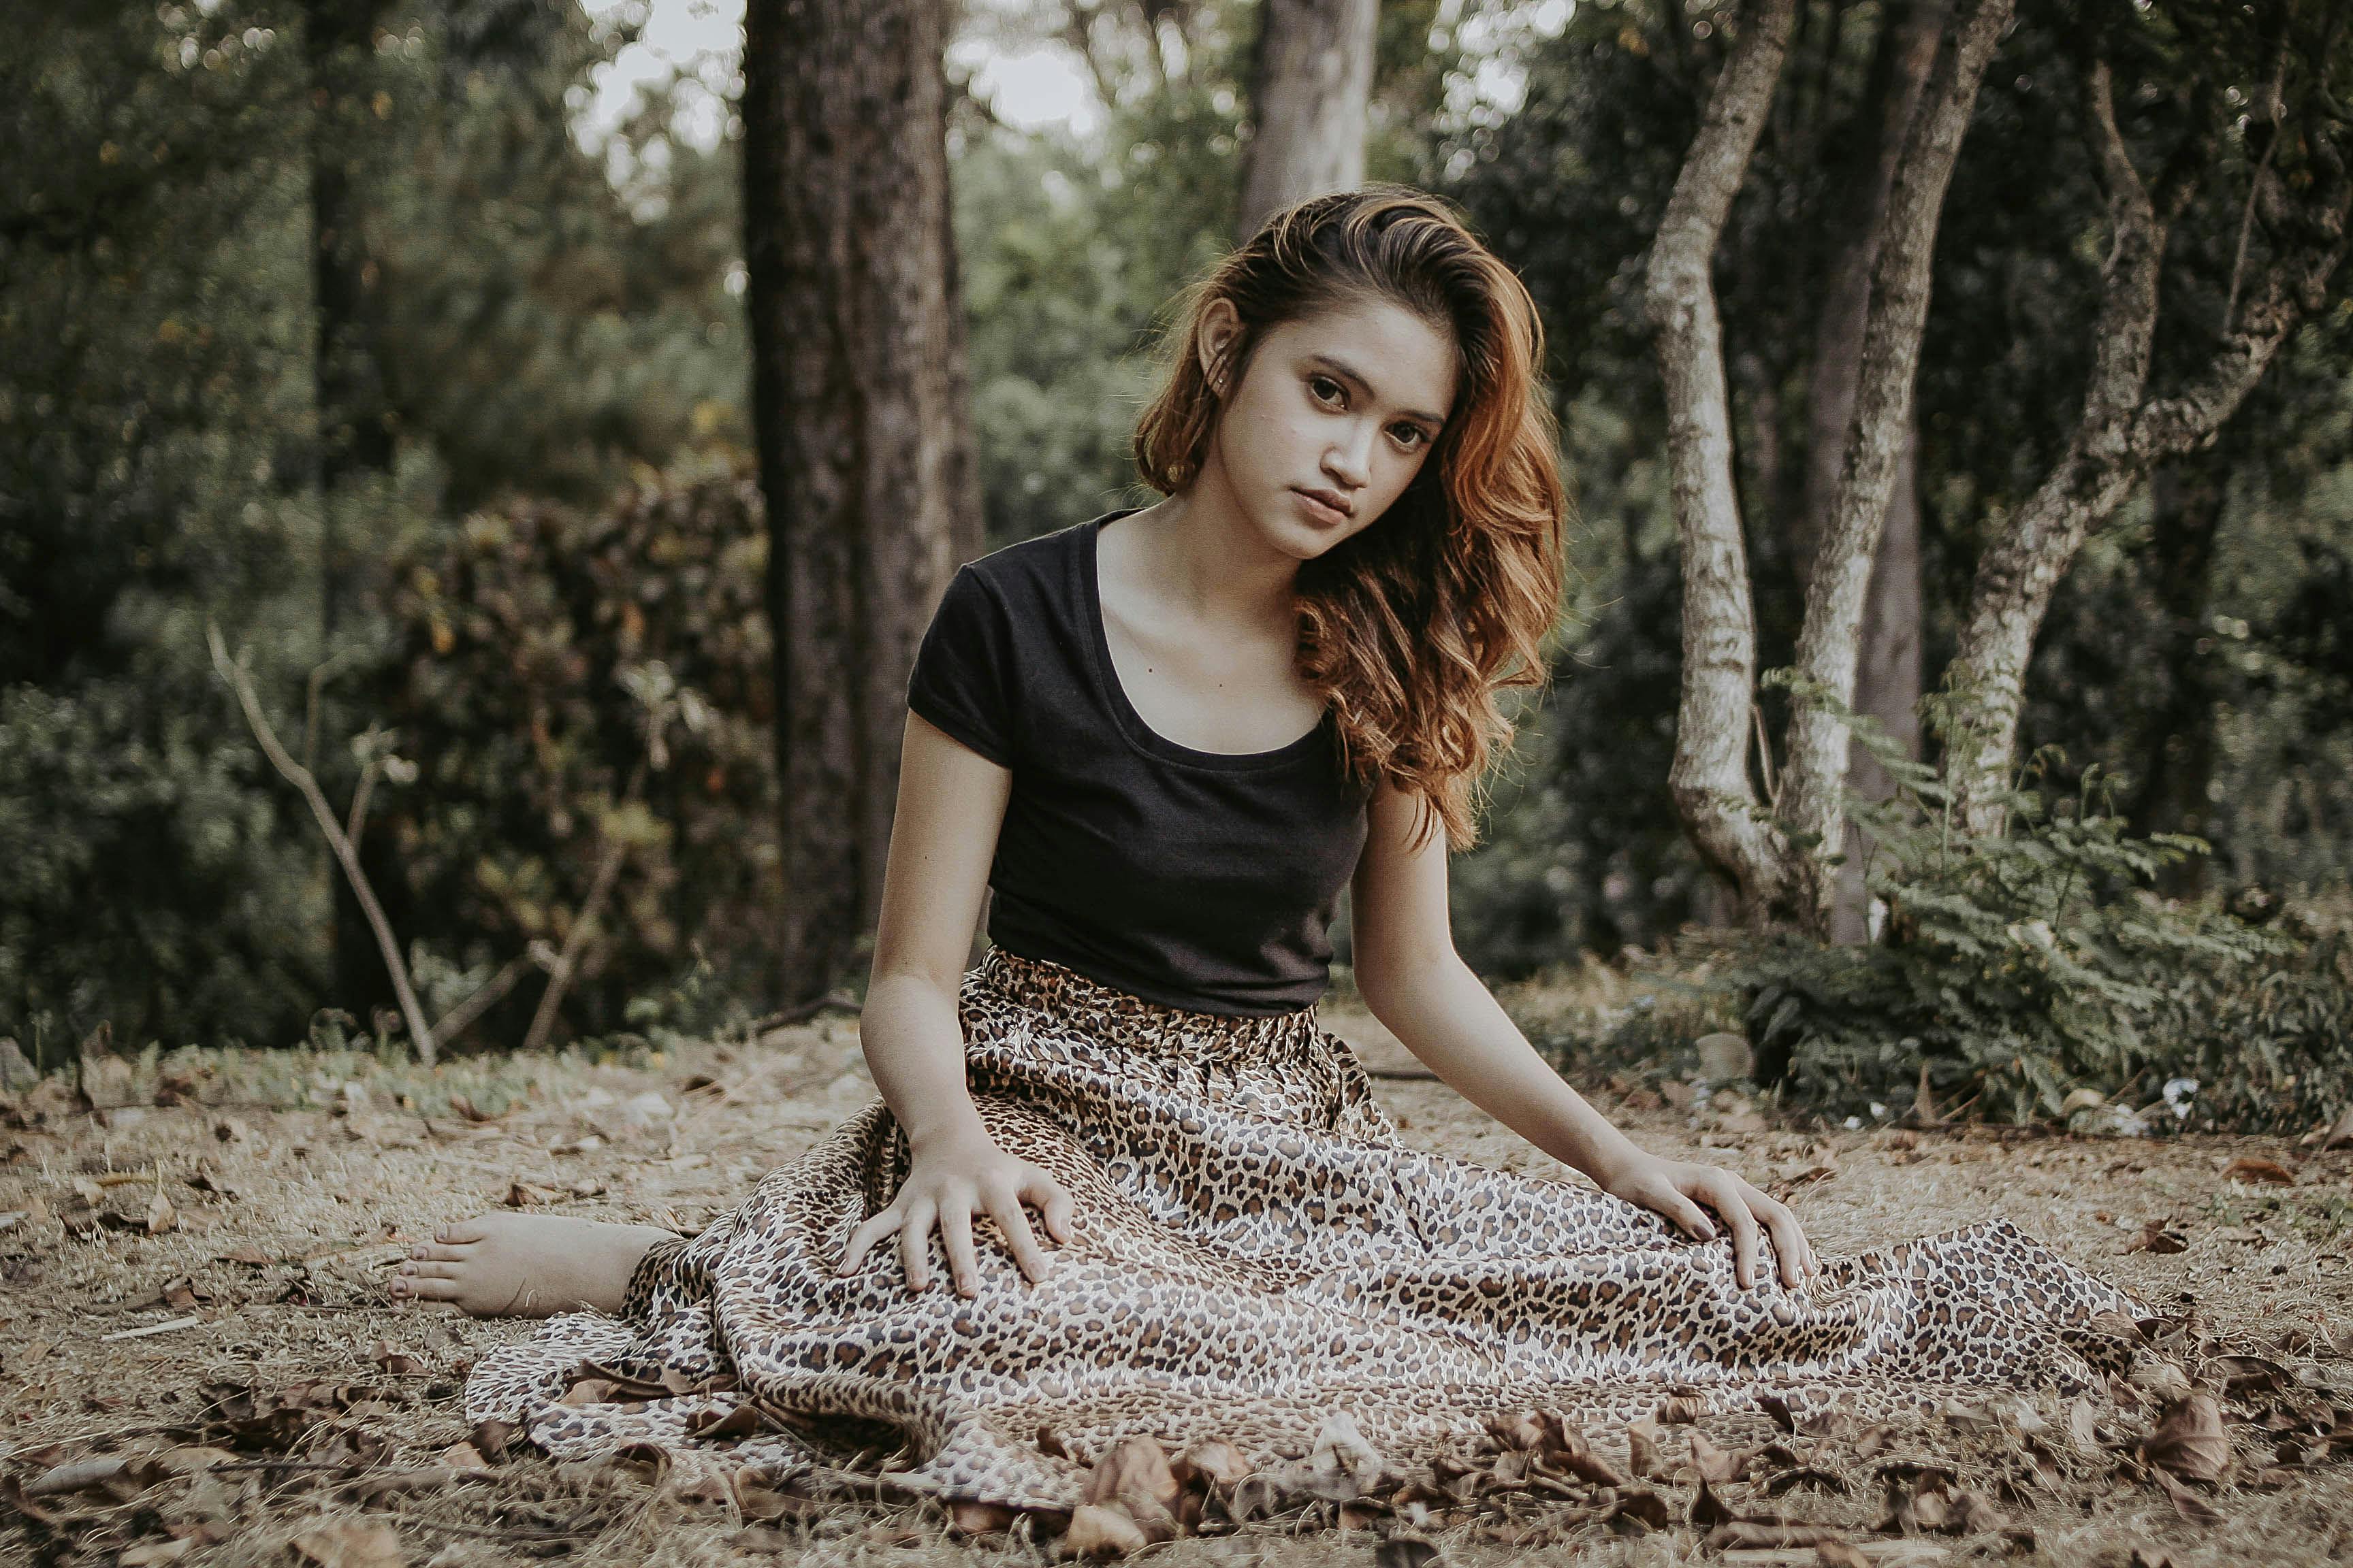
<path fill-rule="evenodd" d="M 906 677 L 976 538 L 944 0 L 751 0 L 744 256 L 776 642 L 786 1006 L 880 905 Z"/>

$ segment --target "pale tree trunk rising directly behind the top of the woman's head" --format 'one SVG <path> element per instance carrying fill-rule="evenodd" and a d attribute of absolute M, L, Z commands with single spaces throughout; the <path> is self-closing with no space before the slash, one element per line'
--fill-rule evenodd
<path fill-rule="evenodd" d="M 1381 0 L 1264 0 L 1242 153 L 1247 240 L 1282 207 L 1365 181 L 1365 115 Z"/>

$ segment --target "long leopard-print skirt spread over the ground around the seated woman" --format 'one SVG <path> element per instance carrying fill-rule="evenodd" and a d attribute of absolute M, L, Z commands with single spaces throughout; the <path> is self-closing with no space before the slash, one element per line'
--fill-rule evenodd
<path fill-rule="evenodd" d="M 1334 1410 L 1412 1465 L 1529 1408 L 1607 1441 L 1671 1394 L 1711 1415 L 1779 1396 L 1802 1420 L 2073 1392 L 2129 1354 L 2094 1319 L 2146 1316 L 2007 1220 L 1828 1258 L 1802 1291 L 1760 1265 L 1741 1291 L 1727 1239 L 1689 1241 L 1579 1178 L 1402 1145 L 1313 1006 L 1193 1013 L 991 950 L 960 1013 L 988 1133 L 1078 1201 L 1042 1284 L 979 1218 L 972 1300 L 936 1239 L 920 1295 L 894 1241 L 833 1272 L 908 1168 L 873 1103 L 647 1253 L 619 1319 L 558 1316 L 485 1356 L 466 1415 L 555 1458 L 649 1443 L 687 1472 L 779 1481 L 840 1481 L 847 1450 L 896 1448 L 904 1490 L 1071 1507 L 1120 1439 L 1221 1436 L 1275 1465 Z M 584 1363 L 616 1385 L 562 1403 Z"/>

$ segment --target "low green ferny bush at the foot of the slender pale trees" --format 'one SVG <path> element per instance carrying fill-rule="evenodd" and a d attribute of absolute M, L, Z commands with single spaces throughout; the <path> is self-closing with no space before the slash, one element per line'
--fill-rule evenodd
<path fill-rule="evenodd" d="M 2009 827 L 1967 835 L 1946 783 L 1887 757 L 1899 792 L 1859 806 L 1880 929 L 1840 947 L 1734 938 L 1720 985 L 1746 1001 L 1758 1072 L 1845 1112 L 1929 1084 L 1946 1112 L 2031 1121 L 2092 1088 L 2184 1121 L 2306 1124 L 2353 1081 L 2353 976 L 2313 940 L 2217 903 L 2172 903 L 2155 875 L 2205 844 L 2137 837 L 2097 769 L 2071 799 L 2009 795 Z M 2057 757 L 2038 755 L 2024 783 Z M 2078 1100 L 2080 1105 L 2080 1100 Z"/>

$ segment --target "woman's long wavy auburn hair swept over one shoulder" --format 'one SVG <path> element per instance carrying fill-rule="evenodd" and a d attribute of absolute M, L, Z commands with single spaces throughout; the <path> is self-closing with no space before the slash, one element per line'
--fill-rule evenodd
<path fill-rule="evenodd" d="M 1567 501 L 1541 393 L 1537 301 L 1452 207 L 1367 186 L 1285 207 L 1186 294 L 1167 376 L 1136 423 L 1136 470 L 1162 496 L 1200 477 L 1219 395 L 1205 315 L 1231 301 L 1219 362 L 1240 386 L 1271 327 L 1386 299 L 1454 339 L 1457 397 L 1405 494 L 1299 567 L 1299 672 L 1332 705 L 1344 773 L 1421 799 L 1414 846 L 1442 825 L 1478 842 L 1480 783 L 1513 726 L 1497 693 L 1546 682 L 1560 611 Z"/>

